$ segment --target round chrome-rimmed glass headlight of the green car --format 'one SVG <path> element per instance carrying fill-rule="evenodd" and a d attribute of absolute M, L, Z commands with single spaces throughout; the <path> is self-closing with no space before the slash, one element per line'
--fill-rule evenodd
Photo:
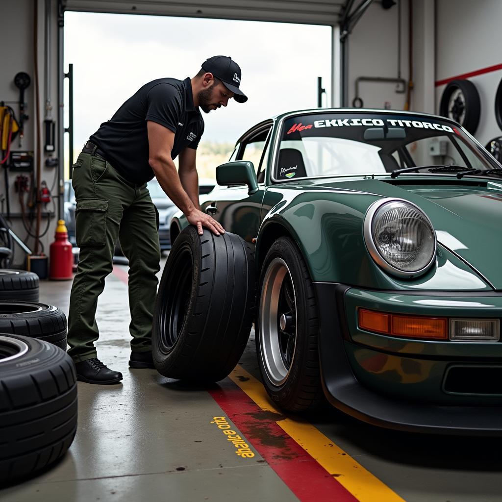
<path fill-rule="evenodd" d="M 429 269 L 436 257 L 436 233 L 415 204 L 401 199 L 379 200 L 364 220 L 364 241 L 373 260 L 399 277 Z"/>

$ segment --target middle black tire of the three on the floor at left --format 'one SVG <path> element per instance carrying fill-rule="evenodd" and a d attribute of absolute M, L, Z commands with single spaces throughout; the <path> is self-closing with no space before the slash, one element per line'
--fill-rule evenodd
<path fill-rule="evenodd" d="M 66 350 L 66 316 L 45 303 L 0 302 L 0 333 L 30 336 Z"/>

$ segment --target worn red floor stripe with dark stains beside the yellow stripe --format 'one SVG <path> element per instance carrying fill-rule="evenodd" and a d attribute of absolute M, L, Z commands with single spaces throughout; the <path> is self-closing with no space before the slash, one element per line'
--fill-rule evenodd
<path fill-rule="evenodd" d="M 209 390 L 226 416 L 302 502 L 357 499 L 276 423 L 281 415 L 262 410 L 232 382 Z"/>

